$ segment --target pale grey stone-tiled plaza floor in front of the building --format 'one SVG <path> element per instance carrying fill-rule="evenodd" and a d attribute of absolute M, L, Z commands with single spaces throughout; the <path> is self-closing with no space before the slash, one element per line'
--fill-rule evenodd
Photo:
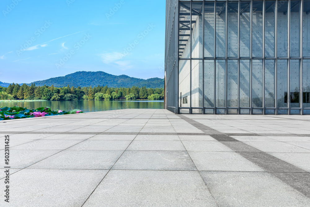
<path fill-rule="evenodd" d="M 0 137 L 0 206 L 310 206 L 307 115 L 126 109 L 2 121 Z"/>

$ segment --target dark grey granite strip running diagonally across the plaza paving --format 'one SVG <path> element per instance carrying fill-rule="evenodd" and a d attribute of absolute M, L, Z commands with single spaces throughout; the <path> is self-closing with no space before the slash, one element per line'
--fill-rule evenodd
<path fill-rule="evenodd" d="M 179 117 L 184 119 L 183 115 L 179 115 Z M 187 121 L 188 118 L 184 120 Z M 188 123 L 192 125 L 195 124 L 196 128 L 202 131 L 205 131 L 207 128 L 209 128 L 206 126 L 199 126 L 198 124 L 195 123 L 194 120 L 188 121 Z M 221 142 L 225 146 L 229 147 L 233 151 L 237 152 L 239 155 L 243 156 L 247 160 L 265 169 L 268 173 L 271 173 L 275 177 L 285 182 L 287 185 L 293 187 L 297 191 L 303 193 L 305 196 L 310 198 L 309 172 L 300 169 L 299 167 L 296 167 L 292 164 L 289 164 L 272 155 L 269 155 L 266 152 L 260 151 L 255 147 L 245 144 L 244 142 L 240 142 L 232 137 L 229 137 L 227 134 L 223 133 L 213 134 L 211 135 L 211 137 Z"/>

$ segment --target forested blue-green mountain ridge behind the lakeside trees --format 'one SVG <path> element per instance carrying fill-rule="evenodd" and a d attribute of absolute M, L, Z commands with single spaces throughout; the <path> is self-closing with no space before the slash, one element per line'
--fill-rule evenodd
<path fill-rule="evenodd" d="M 0 82 L 0 85 L 2 82 Z M 97 72 L 87 72 L 78 71 L 72 74 L 68 74 L 61 77 L 50 78 L 47 80 L 35 81 L 36 86 L 51 86 L 54 87 L 64 87 L 69 84 L 73 87 L 88 87 L 88 86 L 98 86 L 98 85 L 108 85 L 108 87 L 120 88 L 120 87 L 143 87 L 147 88 L 164 88 L 164 79 L 160 78 L 150 78 L 150 79 L 138 79 L 129 77 L 127 75 L 112 75 L 105 73 L 103 71 Z M 9 85 L 9 83 L 7 83 Z M 31 83 L 27 84 L 30 85 Z M 7 86 L 4 86 L 7 87 Z"/>

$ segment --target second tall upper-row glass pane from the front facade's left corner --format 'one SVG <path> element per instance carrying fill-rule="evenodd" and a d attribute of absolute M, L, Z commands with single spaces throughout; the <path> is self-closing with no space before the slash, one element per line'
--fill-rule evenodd
<path fill-rule="evenodd" d="M 202 2 L 192 3 L 192 58 L 202 58 Z"/>

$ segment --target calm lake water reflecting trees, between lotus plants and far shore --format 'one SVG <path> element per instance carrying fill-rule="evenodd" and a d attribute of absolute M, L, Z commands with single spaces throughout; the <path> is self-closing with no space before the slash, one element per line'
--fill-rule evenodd
<path fill-rule="evenodd" d="M 0 106 L 21 106 L 27 109 L 51 107 L 52 110 L 70 111 L 79 109 L 83 112 L 107 111 L 117 109 L 163 109 L 164 101 L 32 101 L 32 102 L 7 102 Z"/>

